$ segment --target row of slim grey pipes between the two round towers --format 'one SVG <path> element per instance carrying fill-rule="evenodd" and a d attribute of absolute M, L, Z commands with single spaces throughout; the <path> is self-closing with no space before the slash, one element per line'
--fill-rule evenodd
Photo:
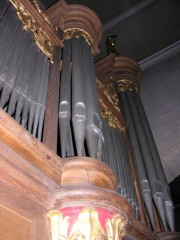
<path fill-rule="evenodd" d="M 131 175 L 127 148 L 123 133 L 108 126 L 106 120 L 103 120 L 103 162 L 105 162 L 116 173 L 118 183 L 118 193 L 122 194 L 132 205 L 134 216 L 139 218 L 139 206 L 135 187 Z M 110 161 L 109 161 L 110 160 Z"/>

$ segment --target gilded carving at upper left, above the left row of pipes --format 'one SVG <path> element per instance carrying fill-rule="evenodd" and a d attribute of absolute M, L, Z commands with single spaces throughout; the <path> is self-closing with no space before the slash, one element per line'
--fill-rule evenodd
<path fill-rule="evenodd" d="M 24 24 L 24 30 L 32 32 L 38 47 L 50 59 L 50 61 L 53 62 L 55 44 L 51 41 L 46 31 L 42 26 L 39 26 L 37 21 L 32 17 L 20 0 L 10 0 L 10 2 L 16 8 L 17 15 Z M 36 1 L 34 1 L 34 3 L 35 2 Z M 48 18 L 45 18 L 45 14 L 43 14 L 43 18 L 46 19 L 46 22 L 50 25 L 50 21 Z"/>

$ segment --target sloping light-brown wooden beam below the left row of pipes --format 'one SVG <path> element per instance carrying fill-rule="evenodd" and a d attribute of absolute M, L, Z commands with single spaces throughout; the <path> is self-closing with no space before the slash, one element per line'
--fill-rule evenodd
<path fill-rule="evenodd" d="M 0 143 L 59 184 L 63 161 L 0 109 Z"/>

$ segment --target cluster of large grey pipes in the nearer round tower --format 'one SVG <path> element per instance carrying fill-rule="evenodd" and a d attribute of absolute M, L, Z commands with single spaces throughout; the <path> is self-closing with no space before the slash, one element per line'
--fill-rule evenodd
<path fill-rule="evenodd" d="M 62 157 L 77 152 L 78 156 L 101 158 L 103 136 L 96 76 L 91 49 L 84 37 L 65 40 L 59 126 Z"/>

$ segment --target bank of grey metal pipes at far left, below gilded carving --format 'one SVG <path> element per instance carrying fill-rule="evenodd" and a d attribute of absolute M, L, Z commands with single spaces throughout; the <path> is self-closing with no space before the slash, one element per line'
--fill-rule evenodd
<path fill-rule="evenodd" d="M 7 1 L 6 1 L 7 2 Z M 0 10 L 0 106 L 42 139 L 50 61 L 23 31 L 14 8 Z M 3 12 L 2 12 L 3 11 Z"/>

